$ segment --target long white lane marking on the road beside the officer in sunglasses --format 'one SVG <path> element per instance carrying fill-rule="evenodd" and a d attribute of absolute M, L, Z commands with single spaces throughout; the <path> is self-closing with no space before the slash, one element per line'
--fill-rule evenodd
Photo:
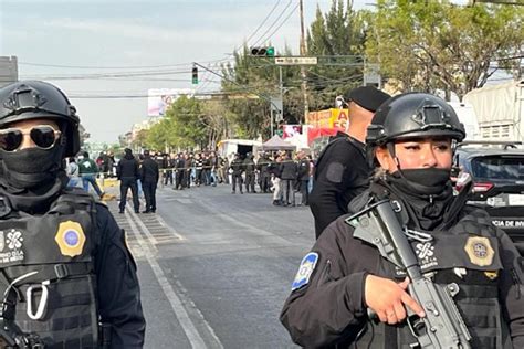
<path fill-rule="evenodd" d="M 153 241 L 151 240 L 145 241 L 143 239 L 143 236 L 140 234 L 140 231 L 138 230 L 137 224 L 135 224 L 135 222 L 134 222 L 134 220 L 132 220 L 130 215 L 133 215 L 135 218 L 135 220 L 138 222 L 138 225 L 140 225 L 140 228 L 143 228 L 143 232 L 145 233 L 145 235 L 148 239 L 149 239 L 149 236 L 153 237 L 153 235 L 150 233 L 149 234 L 147 233 L 148 232 L 147 226 L 144 225 L 144 223 L 142 223 L 142 221 L 138 219 L 138 216 L 135 213 L 132 213 L 130 210 L 128 210 L 127 212 L 129 212 L 129 214 L 126 214 L 125 216 L 126 216 L 127 222 L 129 223 L 130 230 L 132 230 L 133 234 L 135 235 L 136 241 L 138 242 L 138 244 L 143 248 L 143 251 L 145 253 L 145 257 L 147 260 L 147 263 L 149 263 L 149 266 L 151 267 L 153 273 L 155 274 L 155 277 L 157 278 L 158 284 L 160 285 L 166 298 L 169 300 L 171 309 L 175 313 L 175 316 L 177 317 L 178 322 L 182 327 L 182 330 L 186 334 L 186 337 L 188 338 L 189 342 L 191 343 L 191 347 L 197 348 L 197 349 L 208 348 L 205 340 L 200 336 L 199 331 L 195 327 L 191 318 L 189 317 L 188 311 L 184 307 L 184 304 L 182 304 L 181 299 L 178 297 L 177 293 L 175 292 L 171 284 L 169 283 L 166 275 L 164 274 L 163 268 L 158 264 L 157 260 L 154 257 L 153 251 L 150 248 L 150 247 L 155 247 L 153 245 Z M 154 241 L 156 242 L 156 240 L 154 240 Z M 200 313 L 200 310 L 198 310 L 195 307 L 195 311 L 197 311 L 199 317 L 202 319 L 203 325 L 206 326 L 206 328 L 208 329 L 208 331 L 211 334 L 212 338 L 214 339 L 214 341 L 217 343 L 217 347 L 218 348 L 223 348 L 222 343 L 219 340 L 219 338 L 214 335 L 213 329 L 206 321 L 206 319 L 203 318 L 203 315 Z"/>

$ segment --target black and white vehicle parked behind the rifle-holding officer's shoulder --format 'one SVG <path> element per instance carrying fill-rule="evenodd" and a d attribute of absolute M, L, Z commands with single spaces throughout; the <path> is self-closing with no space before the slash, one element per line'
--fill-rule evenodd
<path fill-rule="evenodd" d="M 524 252 L 524 149 L 522 142 L 473 141 L 459 145 L 457 189 L 472 180 L 469 203 L 490 213 Z"/>

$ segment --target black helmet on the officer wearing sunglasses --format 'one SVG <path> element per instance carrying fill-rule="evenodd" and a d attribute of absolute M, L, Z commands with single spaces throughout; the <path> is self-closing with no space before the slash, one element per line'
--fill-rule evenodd
<path fill-rule="evenodd" d="M 36 118 L 57 121 L 65 136 L 61 140 L 65 145 L 65 157 L 78 152 L 80 119 L 61 89 L 41 81 L 21 81 L 0 88 L 0 127 Z"/>

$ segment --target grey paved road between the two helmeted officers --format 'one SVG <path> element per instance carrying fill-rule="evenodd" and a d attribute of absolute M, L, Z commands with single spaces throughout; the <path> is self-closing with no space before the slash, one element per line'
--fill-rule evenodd
<path fill-rule="evenodd" d="M 224 184 L 157 201 L 156 214 L 109 202 L 137 260 L 146 348 L 293 348 L 279 314 L 314 242 L 308 208 Z"/>

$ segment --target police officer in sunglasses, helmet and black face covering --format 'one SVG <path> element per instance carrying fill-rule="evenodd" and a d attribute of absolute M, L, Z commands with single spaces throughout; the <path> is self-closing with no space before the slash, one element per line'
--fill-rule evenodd
<path fill-rule="evenodd" d="M 66 188 L 78 117 L 55 86 L 0 89 L 0 347 L 142 348 L 136 266 L 107 208 Z"/>

